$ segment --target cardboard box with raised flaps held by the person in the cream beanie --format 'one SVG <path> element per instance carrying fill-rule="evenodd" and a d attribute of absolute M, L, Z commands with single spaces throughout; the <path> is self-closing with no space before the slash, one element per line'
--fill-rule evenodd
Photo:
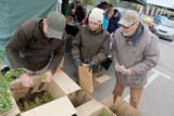
<path fill-rule="evenodd" d="M 89 72 L 87 68 L 87 64 L 82 64 L 82 66 L 78 67 L 78 78 L 82 89 L 86 92 L 91 93 L 94 91 L 94 88 L 100 86 L 111 77 L 107 75 L 101 75 L 94 78 L 92 73 Z"/>

